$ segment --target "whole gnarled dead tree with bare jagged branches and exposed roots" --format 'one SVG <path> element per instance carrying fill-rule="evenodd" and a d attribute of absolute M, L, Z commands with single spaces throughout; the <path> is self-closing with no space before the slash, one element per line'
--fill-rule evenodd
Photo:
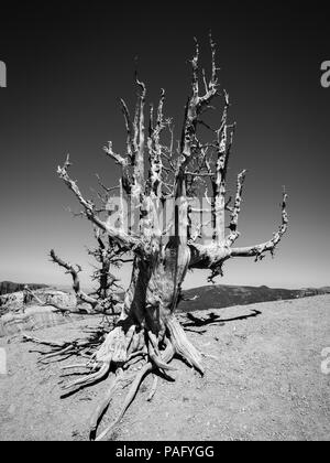
<path fill-rule="evenodd" d="M 216 44 L 211 36 L 210 47 L 211 71 L 207 80 L 206 73 L 199 68 L 196 42 L 191 60 L 191 90 L 177 147 L 172 120 L 164 118 L 164 90 L 157 107 L 151 105 L 146 111 L 146 87 L 136 76 L 138 101 L 133 117 L 121 100 L 127 128 L 125 150 L 117 152 L 111 142 L 105 149 L 121 169 L 116 223 L 102 216 L 96 204 L 82 195 L 70 176 L 69 157 L 58 168 L 59 179 L 82 206 L 85 217 L 108 235 L 111 243 L 133 256 L 131 283 L 117 326 L 95 351 L 89 360 L 90 374 L 65 386 L 65 390 L 72 392 L 106 378 L 109 373 L 113 375 L 107 397 L 91 419 L 91 439 L 96 438 L 100 417 L 117 386 L 127 380 L 125 372 L 132 363 L 139 360 L 142 366 L 131 379 L 131 389 L 111 429 L 130 406 L 143 378 L 151 372 L 166 376 L 173 369 L 169 363 L 174 356 L 204 373 L 201 354 L 189 342 L 176 317 L 187 271 L 209 269 L 212 280 L 222 274 L 223 265 L 229 259 L 254 257 L 261 260 L 266 252 L 274 252 L 287 229 L 287 195 L 284 192 L 282 223 L 273 237 L 253 246 L 234 246 L 240 236 L 238 220 L 245 171 L 238 175 L 237 193 L 231 204 L 227 197 L 227 173 L 235 126 L 228 121 L 230 101 L 228 94 L 220 91 Z M 211 104 L 218 97 L 223 98 L 223 110 L 219 127 L 215 129 L 206 122 L 205 114 L 213 109 Z M 200 134 L 201 128 L 209 132 L 207 141 Z M 193 200 L 196 197 L 206 200 L 206 209 L 204 206 L 194 207 Z M 164 224 L 160 216 L 168 202 L 173 202 L 174 208 L 170 219 Z M 129 206 L 125 208 L 124 204 Z M 202 214 L 209 215 L 210 219 L 205 223 Z M 194 219 L 196 215 L 200 217 L 197 223 Z M 211 229 L 209 243 L 201 239 L 207 228 Z M 75 278 L 74 269 L 59 259 L 55 260 Z M 88 302 L 84 294 L 82 299 Z M 90 302 L 92 305 L 94 302 Z M 151 396 L 155 388 L 156 379 Z M 106 429 L 97 439 L 102 439 L 109 430 Z"/>

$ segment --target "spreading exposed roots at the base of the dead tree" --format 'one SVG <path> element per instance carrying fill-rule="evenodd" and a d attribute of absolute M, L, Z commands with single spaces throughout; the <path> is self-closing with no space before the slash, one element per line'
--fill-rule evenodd
<path fill-rule="evenodd" d="M 79 375 L 78 379 L 62 385 L 62 398 L 77 390 L 92 386 L 108 376 L 109 387 L 103 400 L 94 411 L 89 423 L 90 440 L 103 440 L 121 421 L 128 408 L 135 398 L 143 379 L 154 372 L 154 379 L 147 400 L 151 401 L 156 392 L 158 376 L 174 380 L 167 372 L 175 370 L 170 360 L 175 355 L 187 360 L 189 365 L 204 373 L 201 354 L 190 344 L 178 321 L 170 316 L 166 321 L 167 336 L 158 340 L 150 330 L 138 330 L 135 325 L 127 331 L 122 325 L 117 326 L 110 333 L 100 334 L 97 330 L 89 337 L 74 342 L 43 341 L 37 337 L 24 335 L 24 341 L 51 347 L 51 352 L 40 352 L 43 364 L 50 359 L 64 359 L 72 355 L 87 358 L 84 364 L 66 365 L 62 369 L 68 370 L 66 376 Z M 165 346 L 165 348 L 164 348 Z M 87 355 L 87 352 L 89 355 Z M 77 372 L 78 370 L 78 372 Z M 135 370 L 135 373 L 134 373 Z M 138 370 L 138 372 L 136 372 Z M 112 423 L 97 435 L 98 426 L 107 411 L 117 389 L 130 385 L 122 408 Z"/>

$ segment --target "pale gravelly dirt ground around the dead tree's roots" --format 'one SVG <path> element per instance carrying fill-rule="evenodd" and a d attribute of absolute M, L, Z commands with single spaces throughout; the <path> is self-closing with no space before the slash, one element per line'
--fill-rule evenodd
<path fill-rule="evenodd" d="M 182 362 L 175 383 L 160 380 L 147 402 L 147 377 L 112 440 L 329 440 L 330 295 L 180 315 L 190 340 L 207 355 L 200 377 Z M 68 338 L 90 320 L 38 330 L 40 338 Z M 0 375 L 0 440 L 87 440 L 89 417 L 107 381 L 61 399 L 61 366 L 36 366 L 20 337 L 1 338 L 8 375 Z M 329 354 L 330 355 L 330 354 Z M 213 358 L 217 357 L 217 358 Z M 106 413 L 109 424 L 124 398 Z"/>

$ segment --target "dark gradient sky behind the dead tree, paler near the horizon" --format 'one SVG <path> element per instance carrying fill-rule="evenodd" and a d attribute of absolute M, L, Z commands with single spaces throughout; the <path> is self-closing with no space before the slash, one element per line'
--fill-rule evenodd
<path fill-rule="evenodd" d="M 165 114 L 179 130 L 193 37 L 207 66 L 212 29 L 238 122 L 231 179 L 249 171 L 238 244 L 272 237 L 284 184 L 290 217 L 274 260 L 232 260 L 218 282 L 330 284 L 330 88 L 320 85 L 330 47 L 321 8 L 219 1 L 198 8 L 166 2 L 162 10 L 150 2 L 139 8 L 89 4 L 66 2 L 52 10 L 50 3 L 29 2 L 15 12 L 1 11 L 0 61 L 8 66 L 8 87 L 0 88 L 0 280 L 69 283 L 47 259 L 55 248 L 82 265 L 87 283 L 90 225 L 65 211 L 79 207 L 56 166 L 69 152 L 73 176 L 86 195 L 96 186 L 96 172 L 107 184 L 116 183 L 117 168 L 102 146 L 112 140 L 118 151 L 124 149 L 119 97 L 134 101 L 136 55 L 148 98 L 155 101 L 160 88 L 166 89 Z M 128 281 L 129 269 L 123 277 Z M 205 277 L 189 274 L 186 287 L 205 284 Z"/>

